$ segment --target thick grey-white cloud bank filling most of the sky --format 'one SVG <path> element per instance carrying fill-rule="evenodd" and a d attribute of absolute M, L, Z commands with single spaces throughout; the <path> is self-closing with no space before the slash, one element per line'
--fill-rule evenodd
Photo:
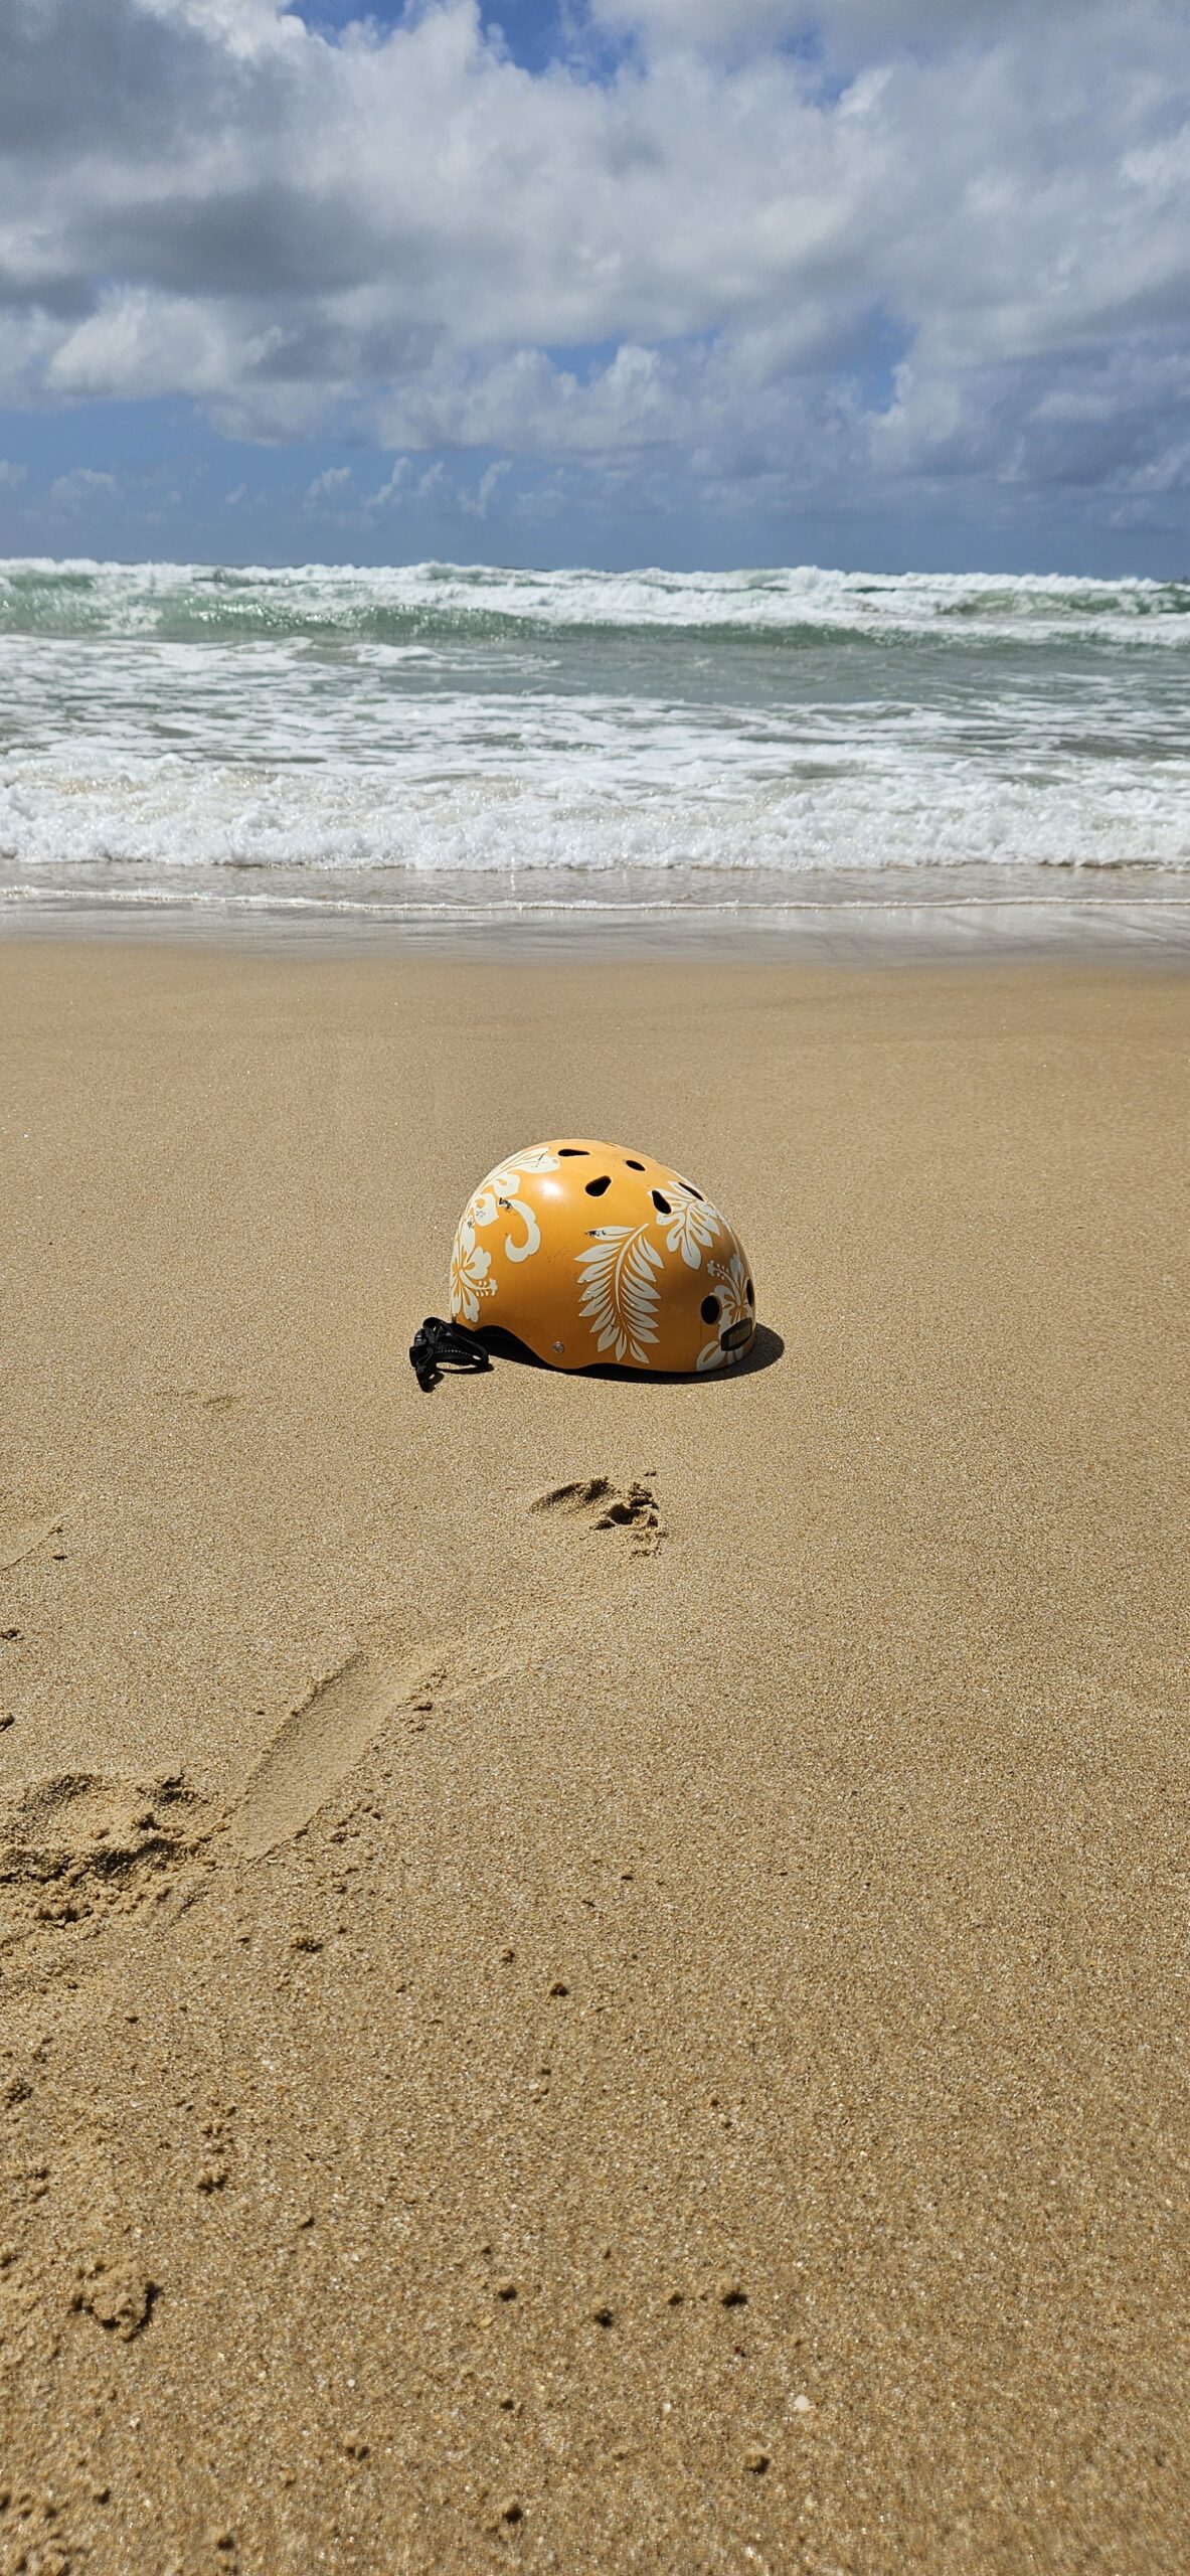
<path fill-rule="evenodd" d="M 634 39 L 608 80 L 525 72 L 474 0 L 340 41 L 281 0 L 0 0 L 0 399 L 353 428 L 402 451 L 371 510 L 433 448 L 1169 505 L 1180 0 L 590 13 Z"/>

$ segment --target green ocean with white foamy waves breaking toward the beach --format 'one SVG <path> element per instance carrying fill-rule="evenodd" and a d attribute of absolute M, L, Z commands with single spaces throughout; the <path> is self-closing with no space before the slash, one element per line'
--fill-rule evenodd
<path fill-rule="evenodd" d="M 0 564 L 0 904 L 1190 896 L 1190 582 Z"/>

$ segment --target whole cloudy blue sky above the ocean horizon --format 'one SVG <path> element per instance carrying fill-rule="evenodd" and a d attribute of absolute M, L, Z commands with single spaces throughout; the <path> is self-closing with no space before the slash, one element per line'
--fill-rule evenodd
<path fill-rule="evenodd" d="M 1190 574 L 1185 0 L 0 0 L 0 551 Z"/>

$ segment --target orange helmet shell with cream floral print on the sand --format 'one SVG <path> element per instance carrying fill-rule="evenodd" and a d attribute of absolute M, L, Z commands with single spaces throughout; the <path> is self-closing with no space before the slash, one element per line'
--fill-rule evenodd
<path fill-rule="evenodd" d="M 451 1316 L 549 1368 L 706 1370 L 750 1350 L 755 1288 L 719 1208 L 649 1154 L 567 1139 L 510 1154 L 469 1198 Z"/>

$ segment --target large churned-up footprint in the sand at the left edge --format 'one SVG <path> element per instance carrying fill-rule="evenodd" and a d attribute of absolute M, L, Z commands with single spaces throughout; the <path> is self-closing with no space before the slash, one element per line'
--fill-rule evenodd
<path fill-rule="evenodd" d="M 178 1883 L 219 1814 L 183 1772 L 57 1772 L 0 1798 L 0 1958 L 77 1968 L 80 1945 Z"/>

